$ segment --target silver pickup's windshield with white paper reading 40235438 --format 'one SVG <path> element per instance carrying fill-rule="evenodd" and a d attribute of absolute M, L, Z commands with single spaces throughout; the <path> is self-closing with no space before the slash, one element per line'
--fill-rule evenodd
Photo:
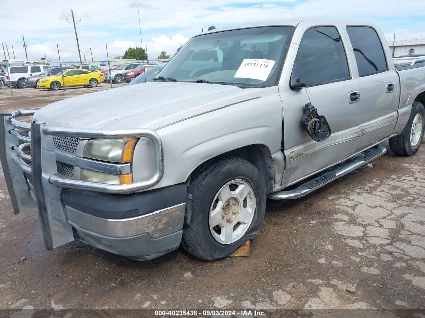
<path fill-rule="evenodd" d="M 276 85 L 292 27 L 256 27 L 192 38 L 153 80 L 235 85 Z"/>

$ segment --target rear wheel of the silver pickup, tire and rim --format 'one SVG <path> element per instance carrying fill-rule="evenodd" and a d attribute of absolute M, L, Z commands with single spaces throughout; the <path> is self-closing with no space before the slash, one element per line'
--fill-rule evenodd
<path fill-rule="evenodd" d="M 401 156 L 412 156 L 420 148 L 425 131 L 425 108 L 415 101 L 412 105 L 409 120 L 403 132 L 390 138 L 391 150 Z"/>

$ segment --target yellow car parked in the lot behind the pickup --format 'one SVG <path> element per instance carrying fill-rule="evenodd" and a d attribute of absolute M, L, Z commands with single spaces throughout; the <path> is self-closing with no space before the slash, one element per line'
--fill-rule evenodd
<path fill-rule="evenodd" d="M 90 72 L 83 69 L 71 68 L 63 71 L 63 79 L 65 87 L 71 86 L 86 86 L 96 87 L 98 83 L 103 82 L 101 72 Z M 37 88 L 47 88 L 51 90 L 61 89 L 63 86 L 62 74 L 49 76 L 37 82 Z"/>

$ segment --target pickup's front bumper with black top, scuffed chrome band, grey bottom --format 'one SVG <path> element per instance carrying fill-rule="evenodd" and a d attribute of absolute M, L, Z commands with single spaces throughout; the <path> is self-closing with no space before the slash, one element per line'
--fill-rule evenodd
<path fill-rule="evenodd" d="M 144 260 L 179 247 L 186 195 L 184 184 L 129 196 L 68 190 L 62 202 L 82 241 Z"/>

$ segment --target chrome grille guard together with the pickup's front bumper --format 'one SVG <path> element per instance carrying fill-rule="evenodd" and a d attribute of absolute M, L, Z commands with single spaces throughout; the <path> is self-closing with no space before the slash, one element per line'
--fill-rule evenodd
<path fill-rule="evenodd" d="M 179 246 L 186 193 L 181 187 L 180 192 L 173 192 L 179 195 L 159 190 L 139 192 L 157 184 L 163 175 L 162 142 L 155 132 L 58 128 L 16 120 L 33 114 L 0 114 L 0 159 L 14 212 L 37 207 L 47 249 L 73 241 L 74 229 L 83 241 L 132 258 L 153 258 Z M 132 167 L 64 154 L 66 151 L 55 146 L 56 137 L 149 138 L 156 149 L 157 171 L 148 180 L 118 185 L 65 177 L 58 173 L 58 162 L 117 174 Z"/>

